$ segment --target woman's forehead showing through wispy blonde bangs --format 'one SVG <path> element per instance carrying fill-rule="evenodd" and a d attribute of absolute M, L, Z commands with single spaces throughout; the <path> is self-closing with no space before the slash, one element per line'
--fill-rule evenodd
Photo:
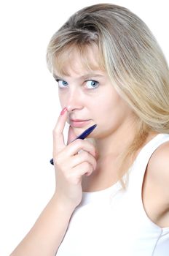
<path fill-rule="evenodd" d="M 53 72 L 69 76 L 74 73 L 104 71 L 104 63 L 96 46 L 86 48 L 68 48 L 55 56 Z"/>

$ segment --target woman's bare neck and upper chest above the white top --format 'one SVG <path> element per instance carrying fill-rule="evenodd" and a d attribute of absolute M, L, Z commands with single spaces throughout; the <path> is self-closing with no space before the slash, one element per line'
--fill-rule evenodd
<path fill-rule="evenodd" d="M 97 149 L 97 167 L 92 175 L 84 177 L 84 191 L 105 189 L 119 180 L 119 166 L 122 162 L 120 157 L 132 143 L 134 136 L 135 129 L 130 126 L 125 132 L 119 132 L 118 129 L 117 132 L 113 132 L 109 136 L 94 140 Z M 125 165 L 126 168 L 130 167 L 130 159 L 128 161 Z"/>

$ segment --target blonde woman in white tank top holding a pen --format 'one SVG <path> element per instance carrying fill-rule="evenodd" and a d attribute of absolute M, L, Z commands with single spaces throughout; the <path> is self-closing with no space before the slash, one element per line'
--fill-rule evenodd
<path fill-rule="evenodd" d="M 12 256 L 167 256 L 169 72 L 151 31 L 124 7 L 86 7 L 53 35 L 47 64 L 63 108 L 56 188 Z"/>

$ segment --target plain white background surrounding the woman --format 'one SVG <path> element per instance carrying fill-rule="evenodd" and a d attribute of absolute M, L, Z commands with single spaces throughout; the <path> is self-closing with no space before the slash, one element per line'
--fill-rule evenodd
<path fill-rule="evenodd" d="M 1 256 L 9 255 L 25 236 L 55 188 L 49 161 L 60 106 L 45 63 L 47 43 L 71 14 L 102 2 L 107 1 L 1 1 Z M 142 18 L 169 60 L 168 1 L 108 2 L 127 7 Z"/>

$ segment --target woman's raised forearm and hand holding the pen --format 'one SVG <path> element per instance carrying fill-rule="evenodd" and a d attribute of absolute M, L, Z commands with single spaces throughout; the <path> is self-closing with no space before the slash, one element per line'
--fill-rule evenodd
<path fill-rule="evenodd" d="M 55 255 L 66 233 L 71 214 L 82 200 L 82 176 L 90 175 L 95 170 L 95 147 L 87 140 L 74 140 L 76 136 L 71 127 L 68 131 L 69 144 L 65 145 L 65 112 L 59 116 L 53 131 L 55 194 L 34 227 L 10 256 Z M 72 140 L 74 141 L 70 143 Z M 82 151 L 81 154 L 77 154 L 79 151 Z"/>

